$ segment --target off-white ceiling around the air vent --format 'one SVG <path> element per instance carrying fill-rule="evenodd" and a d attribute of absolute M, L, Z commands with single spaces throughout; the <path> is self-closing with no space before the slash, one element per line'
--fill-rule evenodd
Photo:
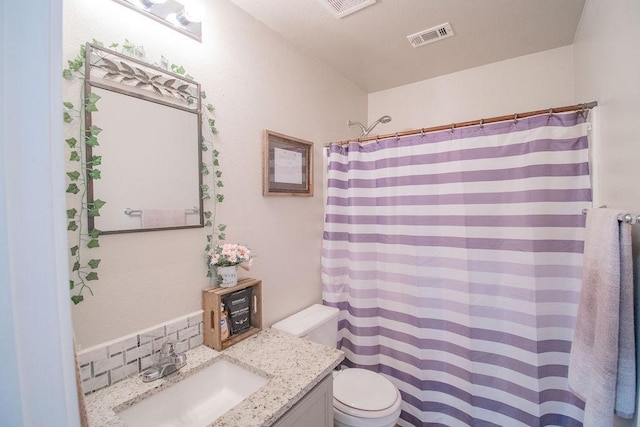
<path fill-rule="evenodd" d="M 584 0 L 377 0 L 336 18 L 320 0 L 231 0 L 367 93 L 573 43 Z M 453 37 L 406 36 L 450 23 Z"/>

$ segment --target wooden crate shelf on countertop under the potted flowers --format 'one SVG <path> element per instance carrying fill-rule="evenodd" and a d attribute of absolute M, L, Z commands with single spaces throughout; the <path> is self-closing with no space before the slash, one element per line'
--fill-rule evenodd
<path fill-rule="evenodd" d="M 250 309 L 251 327 L 249 330 L 231 335 L 223 341 L 220 334 L 222 298 L 245 288 L 253 288 Z M 238 280 L 238 284 L 230 288 L 203 289 L 202 308 L 204 310 L 204 345 L 222 351 L 251 335 L 257 334 L 262 329 L 262 281 L 246 278 Z"/>

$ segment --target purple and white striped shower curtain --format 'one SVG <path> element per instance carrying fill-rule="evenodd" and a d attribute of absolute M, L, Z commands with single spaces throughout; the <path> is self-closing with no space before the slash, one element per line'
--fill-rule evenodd
<path fill-rule="evenodd" d="M 323 299 L 401 425 L 582 425 L 586 134 L 568 113 L 329 148 Z"/>

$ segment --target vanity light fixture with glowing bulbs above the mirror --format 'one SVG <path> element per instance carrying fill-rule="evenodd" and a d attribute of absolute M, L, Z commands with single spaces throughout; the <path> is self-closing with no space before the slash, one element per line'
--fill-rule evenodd
<path fill-rule="evenodd" d="M 203 0 L 113 0 L 174 30 L 202 41 Z"/>

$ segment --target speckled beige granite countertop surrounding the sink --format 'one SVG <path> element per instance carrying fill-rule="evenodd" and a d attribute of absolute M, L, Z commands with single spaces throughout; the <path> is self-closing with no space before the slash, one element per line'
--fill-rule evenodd
<path fill-rule="evenodd" d="M 200 346 L 187 352 L 187 365 L 166 378 L 143 383 L 128 378 L 85 397 L 91 426 L 124 426 L 117 412 L 225 358 L 269 378 L 269 382 L 211 426 L 269 426 L 329 375 L 341 351 L 273 329 L 260 331 L 222 352 Z"/>

